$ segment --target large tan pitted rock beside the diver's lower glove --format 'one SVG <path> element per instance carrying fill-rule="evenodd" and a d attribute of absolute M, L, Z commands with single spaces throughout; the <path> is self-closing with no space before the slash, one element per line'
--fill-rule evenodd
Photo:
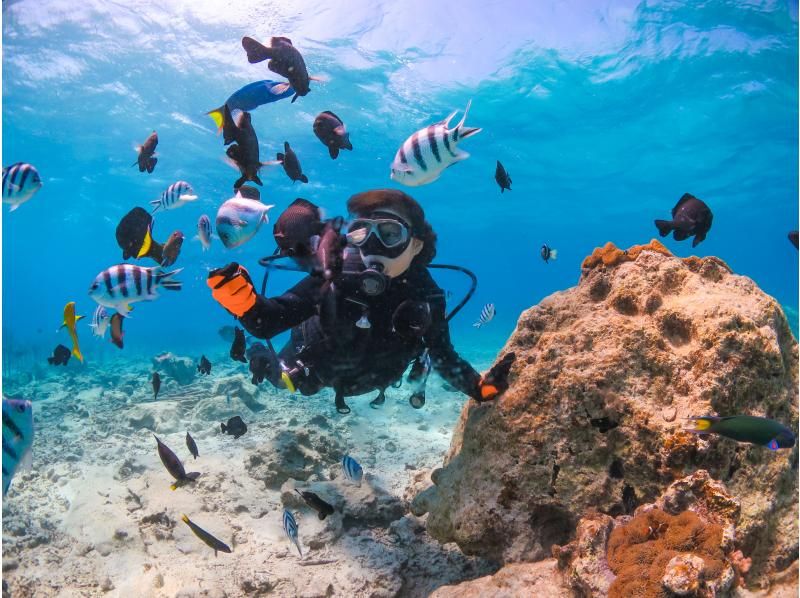
<path fill-rule="evenodd" d="M 576 287 L 522 314 L 509 351 L 509 390 L 465 405 L 444 467 L 412 503 L 434 537 L 504 563 L 540 560 L 590 509 L 632 515 L 703 469 L 738 501 L 748 583 L 797 558 L 797 447 L 683 430 L 707 414 L 797 429 L 797 342 L 752 280 L 655 240 L 609 244 Z"/>

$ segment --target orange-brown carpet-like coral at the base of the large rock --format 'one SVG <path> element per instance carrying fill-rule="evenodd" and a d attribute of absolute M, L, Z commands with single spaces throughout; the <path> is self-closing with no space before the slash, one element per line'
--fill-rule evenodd
<path fill-rule="evenodd" d="M 667 596 L 662 580 L 667 564 L 681 553 L 703 559 L 703 578 L 714 579 L 725 568 L 722 527 L 705 523 L 695 513 L 669 515 L 652 509 L 616 528 L 608 539 L 607 558 L 616 579 L 609 598 Z"/>

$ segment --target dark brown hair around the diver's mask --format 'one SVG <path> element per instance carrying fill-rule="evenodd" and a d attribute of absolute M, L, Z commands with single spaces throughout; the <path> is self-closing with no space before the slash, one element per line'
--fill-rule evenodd
<path fill-rule="evenodd" d="M 436 257 L 436 233 L 425 220 L 425 211 L 417 200 L 397 189 L 373 189 L 356 193 L 347 200 L 347 211 L 354 216 L 368 216 L 387 208 L 403 216 L 411 225 L 411 236 L 425 243 L 413 263 L 430 264 Z"/>

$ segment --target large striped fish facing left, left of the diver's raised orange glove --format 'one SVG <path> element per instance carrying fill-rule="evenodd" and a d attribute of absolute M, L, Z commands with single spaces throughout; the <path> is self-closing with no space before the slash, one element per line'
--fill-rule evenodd
<path fill-rule="evenodd" d="M 133 264 L 117 264 L 98 274 L 89 296 L 100 305 L 111 307 L 121 315 L 127 316 L 130 304 L 137 301 L 158 299 L 158 289 L 180 291 L 181 283 L 172 280 L 183 268 L 164 272 L 161 268 L 143 268 Z"/>

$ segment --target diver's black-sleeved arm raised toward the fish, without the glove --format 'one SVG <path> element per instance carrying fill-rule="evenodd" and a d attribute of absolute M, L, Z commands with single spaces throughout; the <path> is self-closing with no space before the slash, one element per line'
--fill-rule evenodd
<path fill-rule="evenodd" d="M 322 279 L 307 276 L 277 297 L 256 295 L 256 302 L 239 318 L 253 336 L 272 338 L 299 325 L 316 313 Z"/>

